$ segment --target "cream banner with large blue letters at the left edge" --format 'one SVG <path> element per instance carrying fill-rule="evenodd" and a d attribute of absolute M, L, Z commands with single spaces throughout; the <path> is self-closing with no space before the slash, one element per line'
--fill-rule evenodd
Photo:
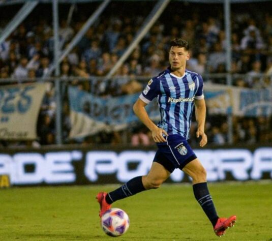
<path fill-rule="evenodd" d="M 0 87 L 0 139 L 37 138 L 37 118 L 47 85 L 32 83 Z"/>

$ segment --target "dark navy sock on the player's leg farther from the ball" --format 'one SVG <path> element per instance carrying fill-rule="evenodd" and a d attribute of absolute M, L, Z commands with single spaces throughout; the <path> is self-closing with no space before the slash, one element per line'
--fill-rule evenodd
<path fill-rule="evenodd" d="M 209 195 L 207 183 L 194 184 L 193 190 L 196 200 L 204 210 L 209 221 L 215 226 L 219 217 L 217 216 L 213 199 Z"/>

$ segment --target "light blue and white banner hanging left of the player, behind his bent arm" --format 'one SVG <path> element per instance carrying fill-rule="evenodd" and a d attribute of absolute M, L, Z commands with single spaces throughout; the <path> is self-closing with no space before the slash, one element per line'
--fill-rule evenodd
<path fill-rule="evenodd" d="M 77 87 L 69 87 L 70 118 L 72 129 L 69 138 L 94 135 L 102 130 L 122 130 L 138 121 L 133 113 L 133 104 L 139 98 L 139 93 L 119 97 L 92 95 Z M 160 117 L 156 102 L 146 106 L 150 118 Z"/>

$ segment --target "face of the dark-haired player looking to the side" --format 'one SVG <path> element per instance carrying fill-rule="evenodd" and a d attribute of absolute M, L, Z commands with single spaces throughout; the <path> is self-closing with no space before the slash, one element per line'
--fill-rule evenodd
<path fill-rule="evenodd" d="M 185 69 L 186 61 L 190 58 L 190 53 L 184 48 L 172 46 L 169 51 L 169 62 L 172 70 Z"/>

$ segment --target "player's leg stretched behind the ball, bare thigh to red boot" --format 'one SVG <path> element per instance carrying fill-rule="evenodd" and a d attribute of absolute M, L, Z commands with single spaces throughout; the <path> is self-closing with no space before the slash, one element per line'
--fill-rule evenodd
<path fill-rule="evenodd" d="M 99 216 L 101 217 L 102 214 L 111 207 L 111 204 L 117 200 L 135 195 L 145 190 L 159 188 L 169 175 L 170 172 L 166 170 L 163 165 L 153 162 L 147 175 L 134 177 L 112 192 L 98 193 L 97 200 L 100 203 Z"/>

